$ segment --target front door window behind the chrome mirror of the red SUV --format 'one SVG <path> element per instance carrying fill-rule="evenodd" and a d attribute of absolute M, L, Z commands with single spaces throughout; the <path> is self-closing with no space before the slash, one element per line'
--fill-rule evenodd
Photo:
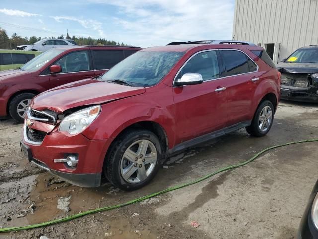
<path fill-rule="evenodd" d="M 203 81 L 219 78 L 217 52 L 206 51 L 192 57 L 182 68 L 177 79 L 180 79 L 185 73 L 199 73 L 202 75 Z"/>

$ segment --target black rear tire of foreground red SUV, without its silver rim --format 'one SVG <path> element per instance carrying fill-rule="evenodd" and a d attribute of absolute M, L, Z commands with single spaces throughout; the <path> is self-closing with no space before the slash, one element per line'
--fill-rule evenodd
<path fill-rule="evenodd" d="M 270 126 L 265 131 L 261 131 L 260 128 L 259 128 L 259 118 L 260 118 L 260 114 L 261 114 L 262 110 L 266 106 L 269 106 L 271 108 L 271 111 L 272 111 L 271 122 L 270 122 Z M 252 124 L 250 126 L 246 127 L 246 131 L 250 135 L 255 136 L 255 137 L 263 137 L 263 136 L 265 136 L 269 132 L 269 130 L 271 129 L 271 127 L 273 125 L 274 113 L 275 113 L 275 109 L 274 109 L 273 104 L 270 101 L 268 101 L 268 100 L 263 101 L 258 106 L 258 108 L 257 108 L 257 110 L 255 112 L 254 118 L 252 120 Z"/>

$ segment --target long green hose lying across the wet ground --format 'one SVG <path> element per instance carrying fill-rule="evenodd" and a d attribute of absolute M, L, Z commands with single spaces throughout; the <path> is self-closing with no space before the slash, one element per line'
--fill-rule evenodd
<path fill-rule="evenodd" d="M 167 192 L 171 192 L 171 191 L 174 191 L 174 190 L 177 190 L 177 189 L 180 189 L 180 188 L 184 188 L 184 187 L 190 186 L 192 184 L 199 183 L 199 182 L 201 182 L 201 181 L 203 181 L 205 179 L 208 179 L 208 178 L 210 178 L 210 177 L 212 177 L 212 176 L 214 176 L 214 175 L 216 175 L 218 173 L 221 173 L 221 172 L 233 169 L 233 168 L 238 168 L 238 167 L 244 166 L 244 165 L 254 161 L 257 157 L 259 157 L 260 155 L 262 155 L 263 153 L 265 153 L 265 152 L 267 152 L 267 151 L 269 151 L 271 149 L 279 148 L 279 147 L 283 147 L 283 146 L 288 146 L 288 145 L 292 145 L 292 144 L 306 143 L 306 142 L 318 142 L 318 139 L 308 139 L 308 140 L 302 140 L 302 141 L 297 141 L 297 142 L 289 142 L 289 143 L 285 143 L 285 144 L 275 145 L 275 146 L 272 146 L 272 147 L 269 147 L 269 148 L 266 148 L 266 149 L 260 151 L 259 153 L 255 154 L 252 158 L 250 158 L 247 161 L 244 161 L 244 162 L 241 162 L 241 163 L 238 163 L 238 164 L 234 164 L 234 165 L 231 165 L 231 166 L 228 166 L 228 167 L 221 168 L 221 169 L 219 169 L 219 170 L 217 170 L 215 172 L 209 173 L 209 174 L 207 174 L 207 175 L 205 175 L 205 176 L 203 176 L 201 178 L 198 178 L 198 179 L 196 179 L 194 181 L 191 181 L 189 183 L 185 183 L 185 184 L 177 185 L 177 186 L 174 186 L 174 187 L 166 188 L 166 189 L 164 189 L 162 191 L 159 191 L 157 193 L 153 193 L 153 194 L 141 197 L 141 198 L 133 199 L 133 200 L 130 200 L 130 201 L 126 202 L 126 203 L 121 203 L 121 204 L 118 204 L 118 205 L 108 206 L 108 207 L 103 207 L 103 208 L 96 208 L 96 209 L 93 209 L 93 210 L 89 210 L 89 211 L 86 211 L 86 212 L 74 214 L 72 216 L 68 216 L 68 217 L 61 218 L 61 219 L 55 219 L 55 220 L 47 221 L 47 222 L 44 222 L 44 223 L 31 224 L 31 225 L 21 226 L 21 227 L 1 228 L 0 229 L 0 233 L 12 232 L 12 231 L 22 231 L 22 230 L 31 229 L 31 228 L 39 228 L 39 227 L 49 226 L 49 225 L 52 225 L 52 224 L 67 222 L 67 221 L 70 221 L 72 219 L 79 218 L 79 217 L 82 217 L 82 216 L 85 216 L 85 215 L 88 215 L 88 214 L 93 214 L 93 213 L 102 212 L 102 211 L 109 211 L 109 210 L 112 210 L 112 209 L 121 208 L 121 207 L 130 205 L 130 204 L 133 204 L 133 203 L 138 203 L 138 202 L 141 202 L 143 200 L 158 196 L 160 194 L 164 194 L 164 193 L 167 193 Z"/>

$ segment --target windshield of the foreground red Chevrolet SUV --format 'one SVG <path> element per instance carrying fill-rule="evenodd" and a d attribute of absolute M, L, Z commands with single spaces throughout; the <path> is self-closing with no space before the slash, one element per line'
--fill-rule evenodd
<path fill-rule="evenodd" d="M 100 79 L 122 80 L 132 86 L 153 86 L 165 77 L 183 55 L 184 52 L 140 51 L 115 65 Z"/>

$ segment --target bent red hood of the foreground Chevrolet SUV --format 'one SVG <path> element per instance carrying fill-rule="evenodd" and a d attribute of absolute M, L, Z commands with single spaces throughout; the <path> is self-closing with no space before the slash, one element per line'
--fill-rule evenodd
<path fill-rule="evenodd" d="M 86 79 L 43 92 L 33 98 L 31 107 L 36 110 L 49 109 L 60 113 L 74 107 L 102 104 L 143 94 L 145 91 L 143 87 Z"/>

